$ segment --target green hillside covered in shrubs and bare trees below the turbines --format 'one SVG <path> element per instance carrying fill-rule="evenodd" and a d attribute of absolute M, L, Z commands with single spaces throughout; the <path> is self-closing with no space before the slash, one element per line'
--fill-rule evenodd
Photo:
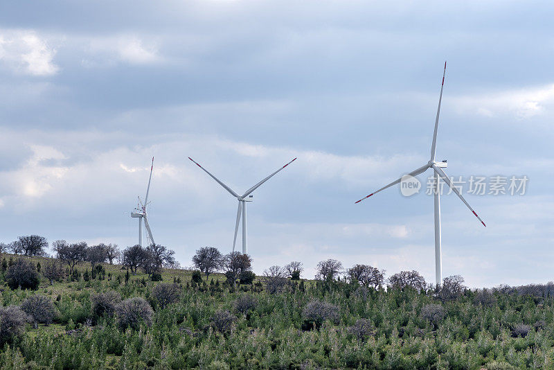
<path fill-rule="evenodd" d="M 468 290 L 451 276 L 437 289 L 417 272 L 385 282 L 333 260 L 316 281 L 298 263 L 251 280 L 250 258 L 199 252 L 215 267 L 161 269 L 162 281 L 148 266 L 84 261 L 52 279 L 57 260 L 3 254 L 1 369 L 554 367 L 551 284 Z M 10 288 L 17 264 L 39 288 Z"/>

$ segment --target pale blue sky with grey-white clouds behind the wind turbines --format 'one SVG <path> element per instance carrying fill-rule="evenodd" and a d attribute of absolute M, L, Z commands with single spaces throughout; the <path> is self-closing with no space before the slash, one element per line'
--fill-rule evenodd
<path fill-rule="evenodd" d="M 253 194 L 254 271 L 367 263 L 434 281 L 433 199 L 399 188 L 429 157 L 450 176 L 522 177 L 524 195 L 442 198 L 443 275 L 554 280 L 554 7 L 475 1 L 56 1 L 0 12 L 1 241 L 137 243 L 149 220 L 190 265 L 229 252 Z M 488 193 L 488 189 L 487 189 Z M 240 236 L 239 236 L 240 238 Z M 240 240 L 238 240 L 240 245 Z"/>

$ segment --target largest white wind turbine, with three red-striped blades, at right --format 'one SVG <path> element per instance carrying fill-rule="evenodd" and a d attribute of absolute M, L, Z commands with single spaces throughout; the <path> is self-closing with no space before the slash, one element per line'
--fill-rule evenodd
<path fill-rule="evenodd" d="M 443 279 L 442 279 L 443 263 L 442 263 L 441 249 L 440 249 L 440 193 L 439 193 L 440 179 L 443 179 L 446 182 L 446 184 L 450 188 L 452 188 L 452 191 L 454 191 L 454 193 L 456 193 L 456 195 L 458 195 L 458 197 L 460 197 L 462 202 L 464 202 L 464 204 L 467 206 L 467 208 L 470 209 L 470 211 L 472 211 L 472 213 L 475 215 L 475 217 L 478 218 L 479 221 L 481 221 L 483 226 L 485 226 L 485 227 L 487 226 L 487 225 L 485 225 L 485 222 L 483 222 L 483 220 L 481 220 L 479 215 L 477 215 L 477 213 L 475 213 L 475 211 L 472 209 L 470 204 L 467 203 L 467 201 L 461 195 L 460 191 L 458 191 L 456 186 L 452 186 L 452 182 L 450 181 L 449 177 L 446 175 L 445 171 L 443 171 L 443 169 L 442 169 L 442 168 L 447 167 L 447 161 L 439 162 L 439 161 L 435 160 L 435 149 L 436 149 L 437 129 L 438 129 L 438 116 L 440 114 L 440 103 L 443 100 L 443 87 L 445 86 L 445 73 L 446 73 L 446 62 L 445 62 L 445 70 L 443 71 L 443 83 L 442 83 L 442 85 L 440 85 L 440 97 L 438 98 L 437 116 L 436 116 L 436 119 L 435 119 L 435 131 L 433 133 L 433 143 L 431 144 L 431 158 L 429 159 L 427 164 L 424 164 L 420 168 L 418 168 L 416 170 L 413 170 L 411 173 L 408 174 L 408 175 L 411 175 L 411 176 L 417 176 L 417 175 L 420 175 L 420 173 L 425 172 L 428 168 L 433 168 L 433 170 L 435 172 L 434 173 L 434 176 L 435 176 L 435 181 L 434 181 L 434 186 L 435 186 L 435 188 L 434 188 L 434 197 L 435 197 L 435 202 L 434 202 L 435 203 L 435 277 L 436 277 L 436 284 L 437 285 L 440 285 L 440 283 L 443 281 Z M 397 180 L 391 182 L 391 184 L 388 184 L 388 185 L 380 188 L 379 190 L 374 191 L 370 195 L 367 195 L 366 197 L 362 198 L 361 200 L 358 200 L 356 203 L 359 203 L 362 200 L 367 199 L 371 195 L 379 193 L 379 191 L 382 191 L 382 190 L 384 190 L 386 188 L 389 188 L 389 187 L 391 187 L 395 184 L 398 184 L 401 181 L 402 181 L 402 177 L 400 179 L 397 179 Z"/>

